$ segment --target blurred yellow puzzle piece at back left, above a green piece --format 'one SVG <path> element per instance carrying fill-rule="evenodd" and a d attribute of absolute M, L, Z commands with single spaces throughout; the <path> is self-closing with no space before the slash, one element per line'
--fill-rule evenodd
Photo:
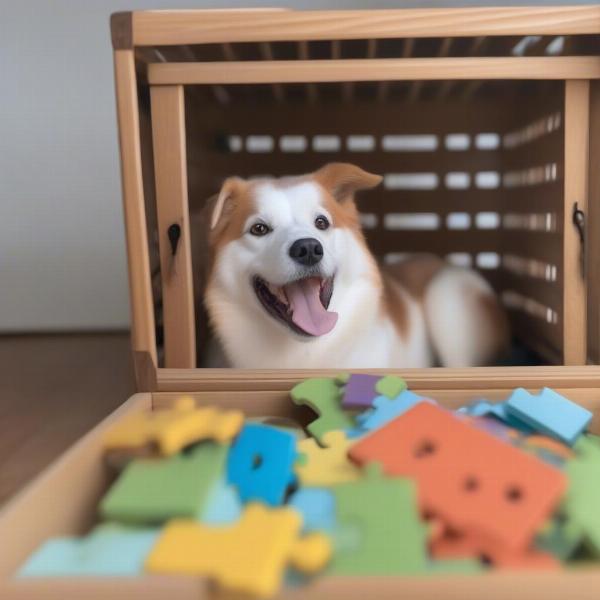
<path fill-rule="evenodd" d="M 200 440 L 226 442 L 235 436 L 244 422 L 238 410 L 197 408 L 194 399 L 182 396 L 169 410 L 137 413 L 108 431 L 107 449 L 133 449 L 155 443 L 160 453 L 171 456 Z"/>

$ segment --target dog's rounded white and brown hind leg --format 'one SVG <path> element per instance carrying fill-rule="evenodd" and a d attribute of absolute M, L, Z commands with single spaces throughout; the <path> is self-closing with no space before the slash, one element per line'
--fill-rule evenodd
<path fill-rule="evenodd" d="M 444 367 L 492 364 L 506 351 L 508 321 L 490 285 L 474 271 L 444 267 L 424 298 L 429 336 Z"/>

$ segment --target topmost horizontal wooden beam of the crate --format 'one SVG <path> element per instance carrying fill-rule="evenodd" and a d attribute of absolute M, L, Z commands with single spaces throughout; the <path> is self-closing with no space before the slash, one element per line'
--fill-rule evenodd
<path fill-rule="evenodd" d="M 133 13 L 136 46 L 221 42 L 600 33 L 600 8 L 502 7 Z"/>

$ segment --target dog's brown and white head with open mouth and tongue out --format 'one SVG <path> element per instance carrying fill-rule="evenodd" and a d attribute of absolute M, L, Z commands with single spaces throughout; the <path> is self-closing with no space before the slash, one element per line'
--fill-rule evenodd
<path fill-rule="evenodd" d="M 301 177 L 227 179 L 212 211 L 212 283 L 228 303 L 247 303 L 297 335 L 328 333 L 336 282 L 351 284 L 368 262 L 354 194 L 380 181 L 345 163 Z"/>

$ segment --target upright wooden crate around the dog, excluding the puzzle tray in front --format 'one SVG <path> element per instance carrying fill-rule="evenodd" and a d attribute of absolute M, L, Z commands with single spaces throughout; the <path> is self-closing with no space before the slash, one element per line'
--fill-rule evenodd
<path fill-rule="evenodd" d="M 359 204 L 380 259 L 472 265 L 548 364 L 597 364 L 599 10 L 114 15 L 140 389 L 207 346 L 198 221 L 224 178 L 332 160 L 385 176 Z"/>

